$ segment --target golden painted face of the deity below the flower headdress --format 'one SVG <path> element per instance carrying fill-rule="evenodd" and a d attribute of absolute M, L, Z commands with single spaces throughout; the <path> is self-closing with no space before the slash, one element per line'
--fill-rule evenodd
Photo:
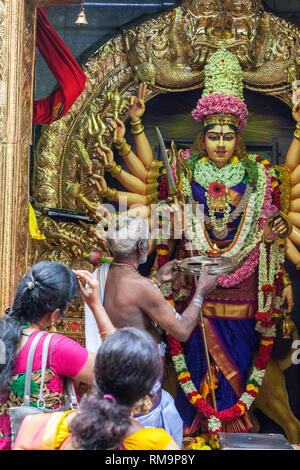
<path fill-rule="evenodd" d="M 234 155 L 238 137 L 233 127 L 214 124 L 209 126 L 203 138 L 203 147 L 218 168 L 225 166 Z"/>

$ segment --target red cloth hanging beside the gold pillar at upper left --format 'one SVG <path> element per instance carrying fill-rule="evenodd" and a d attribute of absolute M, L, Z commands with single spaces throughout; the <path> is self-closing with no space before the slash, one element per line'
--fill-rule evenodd
<path fill-rule="evenodd" d="M 37 10 L 36 45 L 60 86 L 48 97 L 33 100 L 33 122 L 51 124 L 64 116 L 82 93 L 86 76 L 49 23 L 44 8 Z"/>

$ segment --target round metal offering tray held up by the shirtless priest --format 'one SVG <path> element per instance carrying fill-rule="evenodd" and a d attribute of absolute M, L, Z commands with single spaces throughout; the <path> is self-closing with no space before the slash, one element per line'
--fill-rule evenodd
<path fill-rule="evenodd" d="M 179 261 L 176 267 L 177 269 L 184 271 L 187 274 L 199 276 L 203 271 L 204 266 L 208 266 L 209 274 L 214 275 L 229 274 L 235 271 L 237 268 L 237 264 L 232 258 L 229 258 L 228 256 L 212 258 L 207 255 L 186 258 L 182 261 Z"/>

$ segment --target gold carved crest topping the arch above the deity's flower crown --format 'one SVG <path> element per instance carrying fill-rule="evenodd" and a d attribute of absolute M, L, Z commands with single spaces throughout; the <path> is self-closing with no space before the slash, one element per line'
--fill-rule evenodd
<path fill-rule="evenodd" d="M 186 0 L 123 34 L 131 67 L 150 63 L 158 89 L 202 86 L 204 65 L 225 47 L 237 55 L 246 88 L 290 104 L 288 68 L 300 59 L 299 33 L 259 0 Z M 145 80 L 153 84 L 153 76 Z"/>

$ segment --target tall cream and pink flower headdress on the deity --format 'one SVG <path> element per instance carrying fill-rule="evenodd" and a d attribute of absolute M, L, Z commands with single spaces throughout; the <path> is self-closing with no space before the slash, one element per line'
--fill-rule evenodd
<path fill-rule="evenodd" d="M 233 124 L 242 131 L 248 111 L 243 98 L 243 72 L 235 55 L 218 49 L 204 67 L 202 98 L 192 111 L 193 118 L 209 124 Z"/>

